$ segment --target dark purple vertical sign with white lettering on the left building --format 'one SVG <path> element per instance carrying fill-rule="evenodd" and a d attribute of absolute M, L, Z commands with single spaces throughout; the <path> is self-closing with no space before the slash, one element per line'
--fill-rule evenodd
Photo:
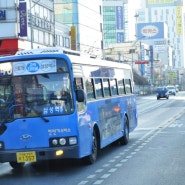
<path fill-rule="evenodd" d="M 26 2 L 19 3 L 20 37 L 27 36 L 27 10 Z"/>

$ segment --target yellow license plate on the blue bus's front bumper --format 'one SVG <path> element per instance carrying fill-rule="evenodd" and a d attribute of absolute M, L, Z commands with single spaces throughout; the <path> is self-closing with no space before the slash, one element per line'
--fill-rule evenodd
<path fill-rule="evenodd" d="M 17 162 L 36 162 L 35 152 L 17 152 Z"/>

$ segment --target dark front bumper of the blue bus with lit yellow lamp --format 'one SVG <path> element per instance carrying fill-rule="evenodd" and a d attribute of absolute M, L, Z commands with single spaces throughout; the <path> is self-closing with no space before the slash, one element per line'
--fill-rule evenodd
<path fill-rule="evenodd" d="M 37 162 L 51 159 L 79 158 L 78 145 L 0 151 L 0 162 Z"/>

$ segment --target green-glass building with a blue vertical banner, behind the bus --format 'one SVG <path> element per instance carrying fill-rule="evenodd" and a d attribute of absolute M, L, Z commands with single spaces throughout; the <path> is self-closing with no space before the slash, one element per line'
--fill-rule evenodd
<path fill-rule="evenodd" d="M 128 41 L 128 0 L 103 0 L 103 47 Z"/>

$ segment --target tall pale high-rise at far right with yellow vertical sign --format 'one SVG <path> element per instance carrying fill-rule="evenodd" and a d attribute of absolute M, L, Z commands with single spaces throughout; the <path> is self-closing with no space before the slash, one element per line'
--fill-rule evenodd
<path fill-rule="evenodd" d="M 141 0 L 141 10 L 137 11 L 137 23 L 162 22 L 167 26 L 167 37 L 153 41 L 154 52 L 162 57 L 168 47 L 172 50 L 172 62 L 167 65 L 171 68 L 184 68 L 184 6 L 183 0 Z M 159 44 L 160 43 L 160 44 Z M 163 44 L 161 44 L 163 43 Z M 166 52 L 166 51 L 165 51 Z M 163 57 L 163 60 L 165 58 Z M 167 62 L 167 59 L 166 59 Z"/>

